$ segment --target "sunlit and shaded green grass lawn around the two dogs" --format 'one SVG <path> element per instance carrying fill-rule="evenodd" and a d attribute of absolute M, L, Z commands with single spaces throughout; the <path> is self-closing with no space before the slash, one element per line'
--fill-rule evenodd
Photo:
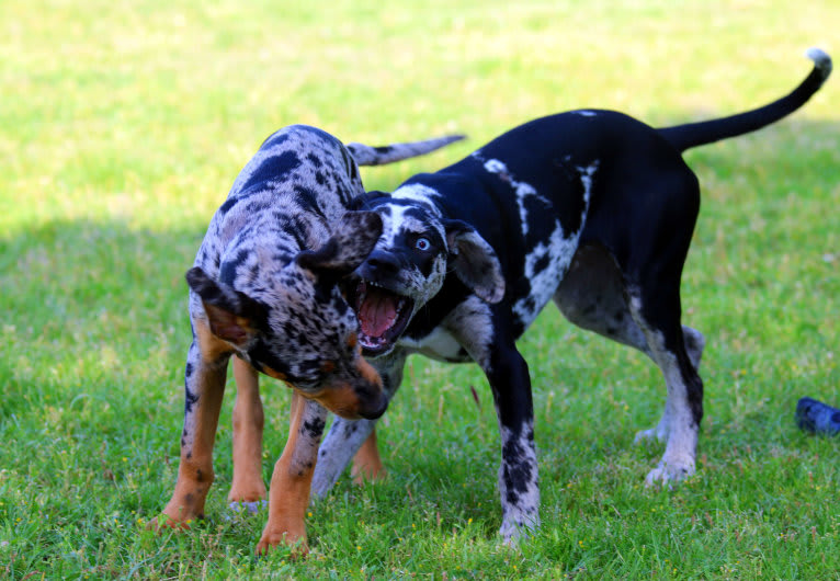
<path fill-rule="evenodd" d="M 252 556 L 264 513 L 226 520 L 231 397 L 208 519 L 145 531 L 175 480 L 183 273 L 272 130 L 470 136 L 365 171 L 387 190 L 542 114 L 693 121 L 786 92 L 808 46 L 840 57 L 831 0 L 412 4 L 0 3 L 0 577 L 837 579 L 840 444 L 793 422 L 801 396 L 840 402 L 837 78 L 793 118 L 688 156 L 704 197 L 685 322 L 708 340 L 689 481 L 643 486 L 661 449 L 633 435 L 658 419 L 657 369 L 549 307 L 520 343 L 543 494 L 520 550 L 496 537 L 485 378 L 420 357 L 381 429 L 388 480 L 345 477 L 314 505 L 307 560 Z M 290 394 L 263 386 L 268 478 Z"/>

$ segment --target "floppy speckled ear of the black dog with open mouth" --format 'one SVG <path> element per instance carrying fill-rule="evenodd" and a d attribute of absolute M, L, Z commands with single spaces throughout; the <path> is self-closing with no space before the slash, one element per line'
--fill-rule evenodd
<path fill-rule="evenodd" d="M 496 251 L 465 221 L 442 220 L 450 247 L 450 266 L 461 282 L 487 303 L 504 296 L 504 276 Z"/>

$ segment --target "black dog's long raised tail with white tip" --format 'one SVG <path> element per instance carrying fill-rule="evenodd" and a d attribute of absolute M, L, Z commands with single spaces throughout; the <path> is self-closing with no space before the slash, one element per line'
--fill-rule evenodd
<path fill-rule="evenodd" d="M 660 128 L 659 134 L 677 149 L 685 151 L 692 147 L 758 130 L 790 115 L 804 105 L 831 75 L 831 57 L 826 53 L 819 48 L 810 48 L 805 55 L 814 61 L 814 70 L 791 94 L 762 107 L 729 117 Z"/>

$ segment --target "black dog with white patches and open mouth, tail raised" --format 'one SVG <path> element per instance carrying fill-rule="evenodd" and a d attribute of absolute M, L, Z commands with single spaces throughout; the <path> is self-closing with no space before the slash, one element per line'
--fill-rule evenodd
<path fill-rule="evenodd" d="M 501 431 L 506 540 L 540 522 L 531 380 L 515 340 L 552 299 L 571 322 L 638 349 L 665 375 L 662 419 L 639 434 L 667 441 L 647 482 L 694 472 L 704 339 L 680 322 L 680 278 L 700 187 L 681 153 L 802 106 L 831 71 L 821 50 L 808 57 L 815 67 L 802 84 L 754 111 L 660 129 L 611 111 L 561 113 L 360 202 L 384 225 L 350 293 L 364 354 L 376 357 L 390 395 L 410 353 L 480 365 Z M 357 468 L 378 471 L 373 426 L 336 420 L 319 453 L 316 495 L 368 434 Z"/>

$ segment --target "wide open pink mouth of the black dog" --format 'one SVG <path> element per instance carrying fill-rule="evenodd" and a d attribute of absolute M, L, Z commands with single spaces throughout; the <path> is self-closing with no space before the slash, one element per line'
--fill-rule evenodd
<path fill-rule="evenodd" d="M 370 281 L 355 288 L 355 310 L 362 323 L 359 342 L 365 354 L 384 353 L 406 330 L 415 301 Z"/>

